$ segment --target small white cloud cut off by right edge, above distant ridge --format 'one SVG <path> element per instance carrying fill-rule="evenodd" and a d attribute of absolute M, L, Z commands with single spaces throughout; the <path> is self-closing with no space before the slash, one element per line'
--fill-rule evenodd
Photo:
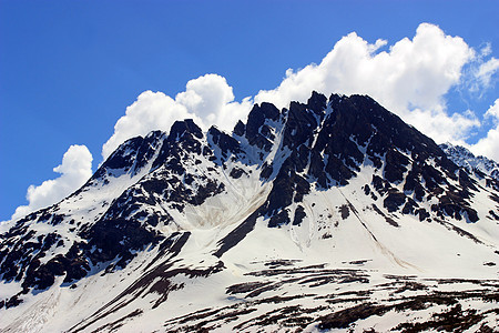
<path fill-rule="evenodd" d="M 492 119 L 493 128 L 487 132 L 487 135 L 480 139 L 470 150 L 477 155 L 485 155 L 499 161 L 499 99 L 485 113 L 486 119 Z"/>

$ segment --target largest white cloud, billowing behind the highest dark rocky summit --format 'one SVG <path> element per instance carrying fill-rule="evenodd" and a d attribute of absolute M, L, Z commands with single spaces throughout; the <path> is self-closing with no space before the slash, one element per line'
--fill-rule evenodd
<path fill-rule="evenodd" d="M 291 100 L 306 101 L 312 90 L 369 94 L 438 141 L 466 138 L 478 121 L 472 115 L 448 114 L 444 97 L 459 84 L 475 51 L 461 38 L 428 23 L 418 27 L 413 40 L 405 38 L 389 51 L 376 53 L 384 44 L 380 40 L 369 44 L 353 32 L 319 64 L 288 70 L 277 89 L 261 91 L 255 101 L 284 107 Z"/>

